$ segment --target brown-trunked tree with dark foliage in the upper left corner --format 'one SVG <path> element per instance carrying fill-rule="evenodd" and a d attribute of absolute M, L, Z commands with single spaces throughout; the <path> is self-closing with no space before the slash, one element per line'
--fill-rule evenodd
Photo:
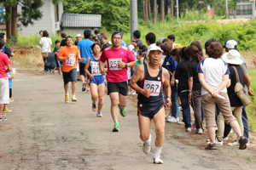
<path fill-rule="evenodd" d="M 6 21 L 6 37 L 15 37 L 15 41 L 17 40 L 18 20 L 21 25 L 28 26 L 43 16 L 40 11 L 44 4 L 42 0 L 0 0 L 0 3 L 3 3 L 6 8 L 3 16 Z M 18 5 L 21 6 L 21 14 L 17 13 Z"/>

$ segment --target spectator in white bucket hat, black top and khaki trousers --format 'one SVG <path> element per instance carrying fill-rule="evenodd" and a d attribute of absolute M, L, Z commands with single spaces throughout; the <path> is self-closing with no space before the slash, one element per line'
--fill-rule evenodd
<path fill-rule="evenodd" d="M 236 72 L 239 76 L 239 80 L 241 85 L 244 86 L 244 72 L 241 69 L 241 64 L 243 63 L 242 59 L 240 59 L 240 53 L 235 49 L 231 49 L 228 53 L 225 53 L 222 58 L 224 61 L 229 64 L 230 70 L 230 80 L 227 85 L 228 95 L 230 99 L 230 107 L 231 111 L 233 112 L 236 120 L 239 124 L 241 129 L 241 135 L 243 135 L 243 123 L 241 121 L 241 111 L 242 111 L 242 104 L 241 100 L 237 97 L 235 93 L 235 86 L 236 86 Z M 218 143 L 219 145 L 223 144 L 223 137 L 224 137 L 224 116 L 220 112 L 218 115 Z M 239 136 L 238 136 L 239 137 Z M 235 144 L 236 143 L 236 144 Z M 238 140 L 235 140 L 234 143 L 229 143 L 229 145 L 239 145 Z"/>

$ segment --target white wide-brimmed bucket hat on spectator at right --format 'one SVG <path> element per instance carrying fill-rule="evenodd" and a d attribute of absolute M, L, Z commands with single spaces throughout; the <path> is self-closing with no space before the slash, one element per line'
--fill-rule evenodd
<path fill-rule="evenodd" d="M 222 59 L 231 65 L 241 65 L 243 60 L 240 59 L 240 53 L 236 49 L 230 49 L 229 52 L 222 55 Z"/>

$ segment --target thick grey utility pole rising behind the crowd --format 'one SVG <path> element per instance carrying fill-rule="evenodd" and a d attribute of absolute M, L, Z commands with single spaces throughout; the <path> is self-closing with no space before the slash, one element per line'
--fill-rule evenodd
<path fill-rule="evenodd" d="M 137 30 L 137 0 L 130 0 L 131 7 L 131 41 L 133 40 L 133 31 Z"/>

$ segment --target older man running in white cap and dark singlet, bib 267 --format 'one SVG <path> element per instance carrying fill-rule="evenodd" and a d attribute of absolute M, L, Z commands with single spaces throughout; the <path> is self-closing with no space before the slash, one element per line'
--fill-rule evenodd
<path fill-rule="evenodd" d="M 143 140 L 143 152 L 151 150 L 151 122 L 155 125 L 154 163 L 162 164 L 160 152 L 165 139 L 165 103 L 162 97 L 162 86 L 166 91 L 166 106 L 171 107 L 171 86 L 168 71 L 160 66 L 163 50 L 157 46 L 148 48 L 148 64 L 137 67 L 131 77 L 131 88 L 138 93 L 137 115 L 140 129 L 140 138 Z"/>

